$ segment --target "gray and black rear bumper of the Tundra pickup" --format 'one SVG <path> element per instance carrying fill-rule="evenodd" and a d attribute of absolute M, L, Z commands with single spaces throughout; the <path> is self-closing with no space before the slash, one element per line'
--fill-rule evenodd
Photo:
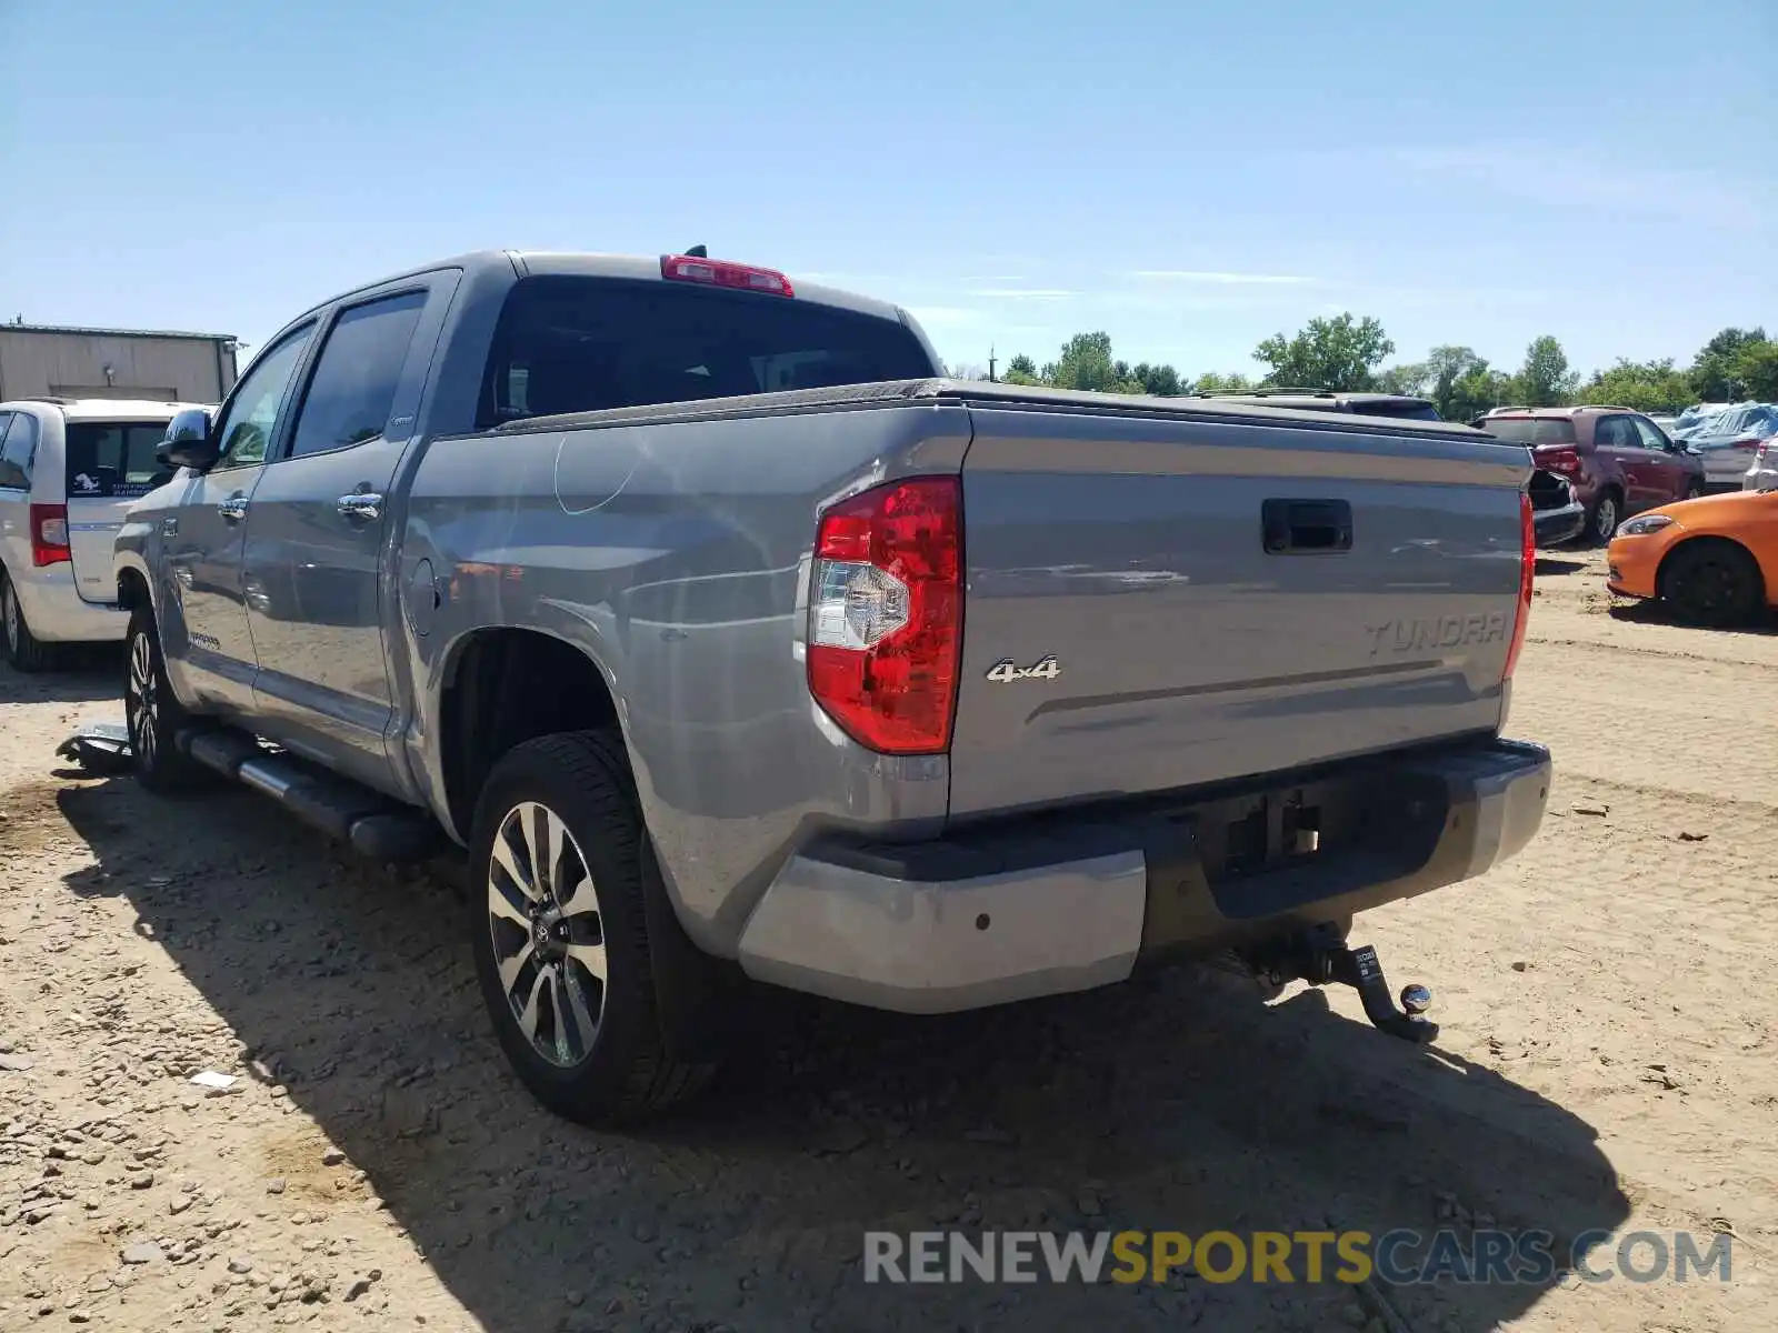
<path fill-rule="evenodd" d="M 1488 741 L 933 842 L 818 842 L 766 889 L 740 963 L 761 981 L 907 1013 L 1088 990 L 1140 958 L 1277 937 L 1474 878 L 1531 841 L 1549 784 L 1549 750 Z M 1293 798 L 1314 802 L 1326 844 L 1241 871 L 1236 832 Z"/>

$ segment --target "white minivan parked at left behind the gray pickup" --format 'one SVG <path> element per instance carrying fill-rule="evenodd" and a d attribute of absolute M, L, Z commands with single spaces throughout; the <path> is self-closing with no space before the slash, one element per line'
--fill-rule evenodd
<path fill-rule="evenodd" d="M 60 643 L 123 642 L 112 540 L 137 496 L 172 476 L 167 421 L 199 403 L 0 402 L 0 654 L 21 672 Z"/>

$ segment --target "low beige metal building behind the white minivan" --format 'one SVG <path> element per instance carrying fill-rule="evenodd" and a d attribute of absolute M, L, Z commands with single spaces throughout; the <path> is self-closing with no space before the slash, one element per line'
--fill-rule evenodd
<path fill-rule="evenodd" d="M 217 403 L 235 384 L 228 334 L 0 323 L 0 402 L 148 398 Z"/>

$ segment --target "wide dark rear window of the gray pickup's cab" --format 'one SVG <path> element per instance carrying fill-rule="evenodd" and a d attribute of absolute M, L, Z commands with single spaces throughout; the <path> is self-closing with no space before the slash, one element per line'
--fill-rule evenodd
<path fill-rule="evenodd" d="M 679 283 L 526 277 L 500 315 L 477 425 L 933 373 L 900 320 Z"/>

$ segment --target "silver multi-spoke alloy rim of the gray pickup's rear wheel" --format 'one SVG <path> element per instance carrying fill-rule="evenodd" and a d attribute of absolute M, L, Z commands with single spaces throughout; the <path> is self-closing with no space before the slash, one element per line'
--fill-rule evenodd
<path fill-rule="evenodd" d="M 562 818 L 519 802 L 487 862 L 494 967 L 519 1031 L 539 1056 L 573 1068 L 605 1017 L 605 921 L 587 858 Z"/>

